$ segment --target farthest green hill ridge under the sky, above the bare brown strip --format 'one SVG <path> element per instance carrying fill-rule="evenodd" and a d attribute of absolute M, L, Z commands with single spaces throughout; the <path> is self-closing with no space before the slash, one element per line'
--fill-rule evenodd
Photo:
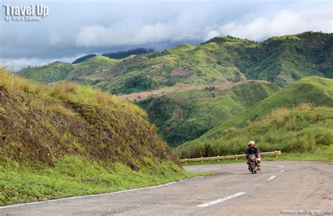
<path fill-rule="evenodd" d="M 283 87 L 304 76 L 332 78 L 332 43 L 333 34 L 319 32 L 275 36 L 261 43 L 232 36 L 216 37 L 199 46 L 185 43 L 161 52 L 131 56 L 106 67 L 100 65 L 91 72 L 81 72 L 84 69 L 77 67 L 75 73 L 57 80 L 76 79 L 115 94 L 244 79 L 264 79 Z M 53 79 L 31 75 L 34 70 L 37 74 L 52 74 L 53 65 L 50 67 L 23 70 L 20 74 L 50 82 Z"/>

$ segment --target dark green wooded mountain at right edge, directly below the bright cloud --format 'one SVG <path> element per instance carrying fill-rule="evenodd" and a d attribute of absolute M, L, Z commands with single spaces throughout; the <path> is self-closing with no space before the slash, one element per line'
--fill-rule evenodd
<path fill-rule="evenodd" d="M 239 50 L 237 62 L 249 79 L 286 86 L 304 76 L 333 78 L 333 34 L 304 32 L 273 36 L 254 48 Z"/>

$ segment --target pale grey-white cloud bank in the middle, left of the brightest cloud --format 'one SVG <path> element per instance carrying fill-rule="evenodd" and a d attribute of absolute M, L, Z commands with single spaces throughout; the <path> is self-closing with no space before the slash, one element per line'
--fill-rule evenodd
<path fill-rule="evenodd" d="M 76 37 L 78 47 L 137 46 L 166 41 L 195 41 L 202 39 L 202 25 L 208 15 L 198 22 L 186 11 L 166 21 L 143 22 L 123 20 L 110 26 L 89 25 L 81 27 Z"/>

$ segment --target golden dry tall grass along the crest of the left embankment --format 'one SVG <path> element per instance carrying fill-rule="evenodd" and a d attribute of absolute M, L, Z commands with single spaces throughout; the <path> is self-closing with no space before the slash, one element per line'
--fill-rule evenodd
<path fill-rule="evenodd" d="M 15 74 L 7 72 L 4 67 L 0 68 L 0 86 L 4 86 L 8 93 L 16 95 L 30 95 L 33 97 L 47 97 L 57 102 L 72 101 L 84 104 L 93 104 L 106 107 L 121 108 L 125 112 L 133 112 L 135 115 L 146 118 L 145 112 L 130 102 L 117 100 L 117 96 L 105 93 L 98 88 L 86 85 L 62 82 L 46 85 L 34 81 L 27 81 Z"/>

